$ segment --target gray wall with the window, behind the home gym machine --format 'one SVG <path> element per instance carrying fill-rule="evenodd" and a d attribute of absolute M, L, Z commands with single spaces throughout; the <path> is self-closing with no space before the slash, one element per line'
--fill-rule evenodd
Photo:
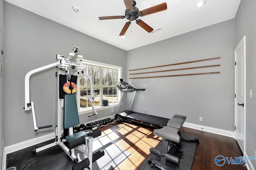
<path fill-rule="evenodd" d="M 126 51 L 8 2 L 4 2 L 4 8 L 4 128 L 8 129 L 4 134 L 5 146 L 55 132 L 55 68 L 35 74 L 30 79 L 30 101 L 34 102 L 38 126 L 53 127 L 34 132 L 32 112 L 22 108 L 26 73 L 55 63 L 56 54 L 68 55 L 77 45 L 85 59 L 122 66 L 126 78 Z M 110 113 L 102 110 L 93 118 Z M 88 115 L 80 115 L 80 123 L 86 123 Z"/>

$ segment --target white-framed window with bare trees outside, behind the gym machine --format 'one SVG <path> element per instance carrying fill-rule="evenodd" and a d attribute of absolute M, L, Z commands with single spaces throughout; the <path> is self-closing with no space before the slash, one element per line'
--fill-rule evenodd
<path fill-rule="evenodd" d="M 79 59 L 80 60 L 80 59 Z M 101 106 L 101 101 L 103 99 L 108 99 L 109 105 L 117 105 L 118 98 L 118 89 L 116 84 L 120 79 L 122 67 L 114 66 L 110 64 L 98 63 L 95 61 L 89 61 L 82 59 L 82 64 L 86 66 L 86 74 L 92 78 L 93 85 L 93 96 L 94 96 L 94 107 L 96 110 L 104 109 L 104 106 Z M 78 76 L 78 107 L 79 113 L 88 113 L 92 111 L 92 107 L 88 100 L 90 97 L 90 80 L 80 74 Z"/>

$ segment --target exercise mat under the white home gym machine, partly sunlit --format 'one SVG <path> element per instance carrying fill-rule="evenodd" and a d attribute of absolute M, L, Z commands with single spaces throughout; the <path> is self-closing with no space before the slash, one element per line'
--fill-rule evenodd
<path fill-rule="evenodd" d="M 46 141 L 6 155 L 6 168 L 17 170 L 71 170 L 75 164 L 58 145 L 33 154 L 32 150 L 42 147 L 54 140 Z M 113 170 L 125 160 L 130 153 L 111 142 L 94 139 L 94 152 L 104 149 L 105 155 L 92 163 L 93 170 Z"/>

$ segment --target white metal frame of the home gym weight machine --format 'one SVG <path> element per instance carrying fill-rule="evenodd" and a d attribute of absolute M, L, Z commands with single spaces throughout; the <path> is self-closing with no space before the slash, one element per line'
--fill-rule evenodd
<path fill-rule="evenodd" d="M 25 110 L 32 110 L 32 117 L 33 117 L 33 124 L 34 124 L 34 131 L 37 131 L 38 129 L 44 129 L 44 128 L 48 128 L 48 127 L 52 127 L 52 125 L 46 125 L 46 126 L 42 126 L 42 127 L 37 127 L 36 124 L 36 115 L 35 115 L 35 109 L 34 109 L 34 102 L 30 102 L 30 76 L 36 72 L 40 72 L 42 70 L 46 70 L 48 68 L 52 68 L 52 67 L 56 67 L 56 114 L 57 114 L 57 125 L 56 125 L 56 137 L 55 137 L 55 142 L 50 143 L 48 145 L 45 145 L 43 147 L 37 148 L 35 150 L 33 150 L 34 153 L 36 152 L 40 152 L 44 149 L 48 149 L 50 147 L 53 147 L 55 145 L 59 145 L 65 152 L 66 154 L 68 154 L 68 156 L 74 161 L 74 162 L 81 162 L 82 160 L 80 159 L 80 156 L 78 154 L 78 157 L 76 157 L 74 155 L 74 149 L 69 149 L 68 147 L 66 147 L 66 145 L 64 144 L 64 142 L 66 141 L 63 138 L 63 133 L 62 133 L 62 129 L 63 129 L 63 118 L 62 118 L 62 107 L 64 106 L 64 99 L 60 99 L 60 94 L 59 94 L 59 78 L 60 75 L 64 74 L 69 76 L 70 75 L 70 68 L 73 68 L 76 70 L 76 72 L 73 75 L 78 75 L 78 74 L 84 74 L 84 76 L 86 76 L 89 80 L 90 80 L 90 97 L 88 97 L 88 100 L 92 106 L 92 109 L 94 111 L 93 114 L 89 115 L 93 116 L 93 115 L 97 115 L 97 111 L 93 105 L 93 101 L 94 101 L 94 97 L 93 97 L 93 86 L 92 86 L 92 78 L 85 73 L 86 67 L 84 64 L 82 64 L 82 60 L 80 60 L 80 63 L 74 63 L 71 62 L 71 57 L 76 56 L 77 58 L 83 58 L 82 55 L 78 54 L 79 51 L 79 47 L 76 48 L 76 46 L 73 47 L 72 52 L 69 53 L 69 56 L 65 59 L 64 55 L 56 55 L 56 59 L 57 62 L 56 63 L 52 63 L 52 64 L 48 64 L 46 66 L 42 66 L 40 68 L 36 68 L 34 70 L 29 71 L 26 76 L 25 76 L 25 107 L 23 109 Z M 73 130 L 71 130 L 72 128 L 69 128 L 69 135 L 73 134 Z M 90 160 L 90 165 L 88 166 L 89 169 L 92 169 L 92 141 L 93 138 L 92 137 L 86 137 L 85 138 L 85 144 L 84 146 L 80 146 L 77 147 L 76 149 L 84 152 L 84 159 L 89 158 Z M 86 169 L 88 169 L 86 168 Z"/>

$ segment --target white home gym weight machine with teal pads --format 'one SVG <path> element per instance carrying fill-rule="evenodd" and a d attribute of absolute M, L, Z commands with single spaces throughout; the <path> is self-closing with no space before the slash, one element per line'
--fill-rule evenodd
<path fill-rule="evenodd" d="M 55 145 L 59 145 L 74 162 L 78 163 L 78 164 L 74 165 L 72 167 L 72 169 L 91 170 L 92 162 L 96 161 L 98 158 L 100 158 L 101 156 L 104 155 L 104 151 L 102 151 L 102 150 L 100 150 L 100 151 L 96 152 L 94 155 L 92 155 L 93 137 L 100 136 L 100 134 L 101 134 L 100 130 L 94 131 L 94 132 L 81 131 L 81 132 L 73 134 L 73 127 L 66 127 L 66 128 L 68 128 L 68 135 L 65 135 L 63 133 L 63 128 L 65 128 L 64 127 L 65 122 L 63 123 L 64 117 L 62 117 L 62 115 L 64 115 L 63 111 L 65 112 L 65 108 L 66 108 L 66 104 L 64 104 L 65 95 L 66 95 L 67 101 L 70 100 L 69 98 L 72 98 L 71 100 L 74 103 L 73 106 L 75 106 L 74 108 L 76 108 L 76 112 L 77 112 L 77 106 L 76 106 L 76 100 L 75 100 L 76 97 L 75 97 L 74 93 L 76 92 L 76 78 L 77 78 L 76 75 L 78 75 L 78 74 L 84 74 L 84 76 L 86 76 L 90 81 L 91 93 L 90 93 L 90 96 L 88 97 L 88 100 L 92 106 L 94 113 L 89 115 L 88 117 L 97 115 L 97 111 L 94 108 L 94 104 L 92 103 L 94 101 L 92 78 L 88 74 L 85 73 L 86 67 L 84 66 L 84 64 L 82 64 L 81 60 L 80 60 L 80 63 L 74 63 L 71 61 L 71 57 L 82 58 L 82 55 L 79 55 L 78 52 L 79 52 L 79 47 L 77 48 L 75 46 L 72 49 L 72 51 L 69 53 L 69 56 L 66 57 L 66 59 L 65 59 L 64 55 L 56 55 L 56 59 L 57 59 L 56 63 L 52 63 L 52 64 L 49 64 L 46 66 L 42 66 L 40 68 L 36 68 L 26 74 L 26 76 L 25 76 L 25 107 L 23 109 L 25 109 L 25 110 L 31 109 L 32 110 L 34 131 L 37 131 L 38 129 L 52 127 L 52 125 L 46 125 L 46 126 L 42 126 L 42 127 L 37 127 L 37 125 L 36 125 L 36 115 L 35 115 L 34 103 L 30 102 L 30 76 L 36 72 L 40 72 L 40 71 L 46 70 L 48 68 L 56 67 L 56 77 L 57 77 L 57 80 L 56 80 L 56 89 L 57 89 L 56 90 L 56 96 L 57 96 L 57 98 L 56 98 L 56 107 L 57 107 L 56 108 L 56 115 L 57 115 L 56 138 L 55 138 L 54 143 L 50 143 L 43 147 L 37 148 L 37 149 L 33 150 L 33 152 L 34 153 L 40 152 L 42 150 L 53 147 Z M 70 68 L 76 70 L 76 72 L 73 75 L 70 74 Z M 68 88 L 66 87 L 66 90 L 68 90 L 68 93 L 72 94 L 72 95 L 67 95 L 67 94 L 65 94 L 65 90 L 64 91 L 62 90 L 62 86 L 65 84 L 70 84 L 68 86 Z M 73 109 L 73 106 L 72 106 L 72 109 Z M 78 117 L 78 112 L 77 112 L 77 117 Z M 79 124 L 79 117 L 78 117 L 78 124 Z M 82 135 L 80 134 L 80 136 L 82 136 L 82 137 L 80 137 L 78 135 L 79 133 L 82 133 Z M 68 140 L 67 138 L 65 139 L 65 136 L 67 136 L 67 137 L 72 136 L 72 138 L 69 138 L 70 140 Z M 76 138 L 78 138 L 78 139 L 76 139 Z M 80 158 L 79 154 L 75 155 L 74 148 L 78 149 L 80 152 L 83 153 L 83 158 Z"/>

